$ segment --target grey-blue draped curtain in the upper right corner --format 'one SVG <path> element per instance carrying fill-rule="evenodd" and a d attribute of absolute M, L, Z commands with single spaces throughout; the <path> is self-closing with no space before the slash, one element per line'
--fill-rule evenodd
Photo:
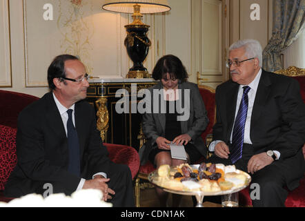
<path fill-rule="evenodd" d="M 263 68 L 282 69 L 281 52 L 305 28 L 305 0 L 273 0 L 273 35 L 263 52 Z"/>

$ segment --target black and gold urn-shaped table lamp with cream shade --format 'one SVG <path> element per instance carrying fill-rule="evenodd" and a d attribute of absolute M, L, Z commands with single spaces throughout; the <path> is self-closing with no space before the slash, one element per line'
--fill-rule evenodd
<path fill-rule="evenodd" d="M 153 14 L 167 12 L 171 8 L 167 0 L 106 0 L 104 10 L 121 13 L 133 13 L 132 23 L 125 26 L 128 34 L 124 41 L 128 56 L 133 61 L 126 78 L 147 78 L 150 77 L 147 69 L 143 66 L 143 61 L 148 55 L 151 46 L 147 37 L 148 28 L 141 21 L 142 14 Z"/>

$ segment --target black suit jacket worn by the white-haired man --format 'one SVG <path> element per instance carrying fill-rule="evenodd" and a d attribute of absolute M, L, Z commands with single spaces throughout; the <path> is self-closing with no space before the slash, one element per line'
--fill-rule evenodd
<path fill-rule="evenodd" d="M 230 142 L 238 89 L 239 84 L 232 80 L 216 89 L 217 122 L 213 140 Z M 279 151 L 278 162 L 287 166 L 284 171 L 287 184 L 297 185 L 293 184 L 295 177 L 304 173 L 305 105 L 295 79 L 262 70 L 251 116 L 250 140 L 255 155 Z"/>

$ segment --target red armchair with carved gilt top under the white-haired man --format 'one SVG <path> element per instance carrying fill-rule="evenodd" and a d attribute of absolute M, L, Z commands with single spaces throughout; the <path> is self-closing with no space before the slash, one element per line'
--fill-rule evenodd
<path fill-rule="evenodd" d="M 305 69 L 296 68 L 291 66 L 284 70 L 278 70 L 275 73 L 279 75 L 286 75 L 293 77 L 299 81 L 300 92 L 302 95 L 303 102 L 305 103 Z M 303 154 L 305 160 L 305 144 L 303 146 Z M 252 206 L 252 201 L 249 195 L 249 188 L 239 192 L 239 204 L 242 206 Z M 299 182 L 297 189 L 290 191 L 285 202 L 285 206 L 288 207 L 305 207 L 305 175 Z"/>

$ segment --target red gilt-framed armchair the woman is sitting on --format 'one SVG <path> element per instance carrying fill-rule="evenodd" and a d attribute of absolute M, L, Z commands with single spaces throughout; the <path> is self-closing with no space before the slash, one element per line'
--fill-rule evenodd
<path fill-rule="evenodd" d="M 202 99 L 204 100 L 206 111 L 208 112 L 208 119 L 210 119 L 210 122 L 204 133 L 201 134 L 201 137 L 204 140 L 206 140 L 206 142 L 210 142 L 208 141 L 208 139 L 212 138 L 209 135 L 213 131 L 213 126 L 215 124 L 215 117 L 216 117 L 215 90 L 208 86 L 199 86 L 199 92 L 201 94 Z M 138 139 L 140 140 L 140 148 L 141 148 L 141 146 L 143 146 L 145 142 L 145 137 L 143 132 L 141 132 L 141 130 Z M 199 162 L 201 162 L 202 160 L 204 159 L 202 158 L 201 160 L 199 160 Z M 137 179 L 135 180 L 135 204 L 137 207 L 140 206 L 140 190 L 141 188 L 145 188 L 145 184 L 141 184 L 140 180 L 148 180 L 148 174 L 153 171 L 155 171 L 155 167 L 150 161 L 148 161 L 145 165 L 139 167 L 139 173 L 137 174 Z"/>

